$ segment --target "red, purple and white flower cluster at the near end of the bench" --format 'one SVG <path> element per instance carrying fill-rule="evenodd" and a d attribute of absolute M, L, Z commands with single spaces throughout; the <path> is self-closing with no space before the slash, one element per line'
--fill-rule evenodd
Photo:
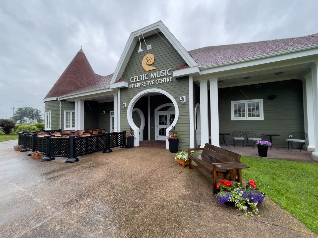
<path fill-rule="evenodd" d="M 240 183 L 235 183 L 220 180 L 217 185 L 220 192 L 215 195 L 218 202 L 222 205 L 226 203 L 234 203 L 239 211 L 243 211 L 246 216 L 258 214 L 258 204 L 262 204 L 264 193 L 259 191 L 255 182 L 250 180 L 245 188 Z"/>

